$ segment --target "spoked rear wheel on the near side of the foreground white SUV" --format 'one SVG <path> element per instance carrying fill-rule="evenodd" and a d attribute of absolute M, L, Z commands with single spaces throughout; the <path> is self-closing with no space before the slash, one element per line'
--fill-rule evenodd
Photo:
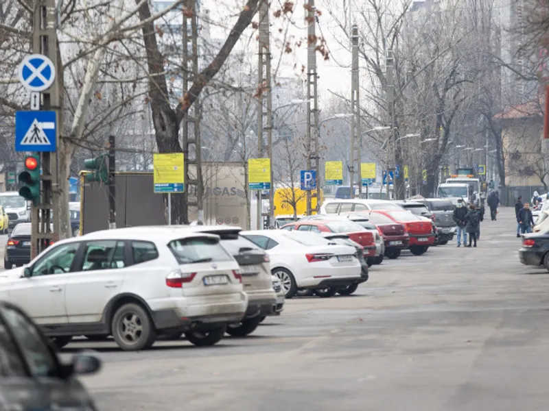
<path fill-rule="evenodd" d="M 156 341 L 156 329 L 149 314 L 139 305 L 128 303 L 113 316 L 113 338 L 124 351 L 149 349 Z"/>

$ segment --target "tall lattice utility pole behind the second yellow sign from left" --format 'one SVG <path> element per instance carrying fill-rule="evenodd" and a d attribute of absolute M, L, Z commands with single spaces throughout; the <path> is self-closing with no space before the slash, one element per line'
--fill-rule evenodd
<path fill-rule="evenodd" d="M 274 182 L 272 181 L 272 90 L 270 79 L 269 3 L 259 6 L 259 103 L 257 105 L 257 155 L 270 159 L 269 227 L 274 227 Z M 265 142 L 264 142 L 265 136 Z M 261 190 L 257 190 L 257 229 L 263 228 Z"/>

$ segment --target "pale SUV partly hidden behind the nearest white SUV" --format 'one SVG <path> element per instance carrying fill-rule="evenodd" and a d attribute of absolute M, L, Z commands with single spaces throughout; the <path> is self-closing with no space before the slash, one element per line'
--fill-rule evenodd
<path fill-rule="evenodd" d="M 246 336 L 254 332 L 261 317 L 277 315 L 277 293 L 272 288 L 268 253 L 240 235 L 240 227 L 196 225 L 186 227 L 194 232 L 220 236 L 223 247 L 237 260 L 242 271 L 242 284 L 248 295 L 248 308 L 239 323 L 227 325 L 227 334 Z"/>

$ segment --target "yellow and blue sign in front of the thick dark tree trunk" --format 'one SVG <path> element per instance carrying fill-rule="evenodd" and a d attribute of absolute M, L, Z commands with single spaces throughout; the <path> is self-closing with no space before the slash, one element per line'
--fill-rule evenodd
<path fill-rule="evenodd" d="M 153 154 L 154 192 L 185 191 L 183 153 Z"/>

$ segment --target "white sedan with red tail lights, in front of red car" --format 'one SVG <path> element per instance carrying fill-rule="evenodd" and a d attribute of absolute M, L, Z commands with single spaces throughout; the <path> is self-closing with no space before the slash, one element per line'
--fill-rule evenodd
<path fill-rule="evenodd" d="M 323 290 L 357 284 L 360 262 L 354 247 L 307 232 L 261 230 L 241 232 L 242 236 L 267 250 L 272 274 L 279 277 L 286 298 L 298 290 Z"/>

